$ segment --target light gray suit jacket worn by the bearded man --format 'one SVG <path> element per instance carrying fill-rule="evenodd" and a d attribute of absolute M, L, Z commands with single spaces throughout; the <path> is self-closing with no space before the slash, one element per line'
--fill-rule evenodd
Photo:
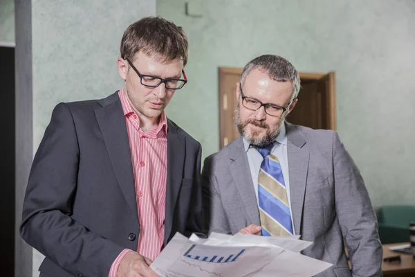
<path fill-rule="evenodd" d="M 295 233 L 314 242 L 302 253 L 333 264 L 317 276 L 382 276 L 376 215 L 362 176 L 337 132 L 289 123 L 286 131 Z M 205 159 L 202 185 L 207 233 L 234 234 L 249 224 L 260 225 L 241 137 Z"/>

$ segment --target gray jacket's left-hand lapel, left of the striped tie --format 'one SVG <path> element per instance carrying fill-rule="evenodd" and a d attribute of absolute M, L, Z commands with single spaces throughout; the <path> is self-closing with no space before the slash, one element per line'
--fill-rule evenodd
<path fill-rule="evenodd" d="M 230 159 L 232 160 L 229 168 L 230 174 L 239 195 L 241 195 L 243 206 L 246 208 L 250 221 L 252 224 L 261 225 L 257 198 L 255 197 L 255 189 L 252 184 L 248 157 L 243 148 L 242 137 L 239 136 L 232 145 L 233 148 L 230 149 Z"/>

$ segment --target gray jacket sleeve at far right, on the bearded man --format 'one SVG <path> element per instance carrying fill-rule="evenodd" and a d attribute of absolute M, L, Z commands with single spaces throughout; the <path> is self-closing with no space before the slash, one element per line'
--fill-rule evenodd
<path fill-rule="evenodd" d="M 335 208 L 347 242 L 353 277 L 382 276 L 376 215 L 360 172 L 333 132 Z"/>

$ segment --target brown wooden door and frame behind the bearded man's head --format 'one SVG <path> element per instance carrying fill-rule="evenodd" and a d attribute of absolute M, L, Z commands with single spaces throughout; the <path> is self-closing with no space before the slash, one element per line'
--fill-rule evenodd
<path fill-rule="evenodd" d="M 223 148 L 239 136 L 234 127 L 234 111 L 237 107 L 236 84 L 243 69 L 219 67 L 219 134 Z M 335 73 L 299 73 L 301 89 L 298 102 L 289 123 L 313 129 L 336 129 Z"/>

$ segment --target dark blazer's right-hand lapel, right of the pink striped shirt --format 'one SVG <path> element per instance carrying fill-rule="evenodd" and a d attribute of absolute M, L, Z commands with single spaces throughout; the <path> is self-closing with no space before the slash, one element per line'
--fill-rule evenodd
<path fill-rule="evenodd" d="M 172 232 L 174 209 L 183 179 L 185 137 L 177 133 L 177 126 L 167 119 L 167 184 L 165 243 Z"/>

